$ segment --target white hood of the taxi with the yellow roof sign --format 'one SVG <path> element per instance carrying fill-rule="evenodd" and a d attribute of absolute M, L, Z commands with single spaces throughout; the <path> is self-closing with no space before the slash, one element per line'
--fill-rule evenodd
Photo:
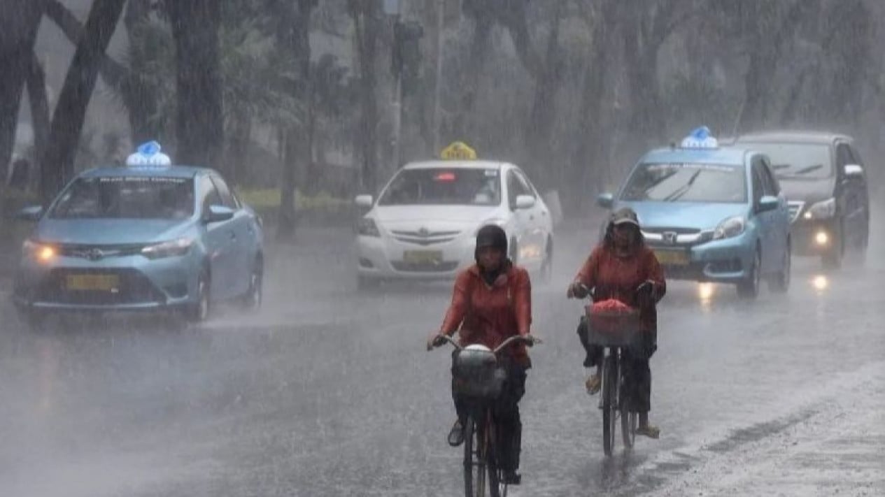
<path fill-rule="evenodd" d="M 395 229 L 428 224 L 475 226 L 493 218 L 497 210 L 488 205 L 379 205 L 373 216 L 381 226 Z"/>

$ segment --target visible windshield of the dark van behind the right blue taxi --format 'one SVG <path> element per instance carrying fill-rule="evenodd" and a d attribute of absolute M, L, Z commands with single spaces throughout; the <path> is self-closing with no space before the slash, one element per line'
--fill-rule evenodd
<path fill-rule="evenodd" d="M 822 180 L 833 175 L 829 145 L 820 143 L 750 143 L 743 146 L 766 154 L 780 180 Z"/>

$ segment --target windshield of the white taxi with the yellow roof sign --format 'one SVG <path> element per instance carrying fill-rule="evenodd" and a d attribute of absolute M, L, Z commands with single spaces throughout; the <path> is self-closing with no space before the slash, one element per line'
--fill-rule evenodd
<path fill-rule="evenodd" d="M 498 205 L 497 169 L 404 169 L 390 181 L 379 205 Z"/>

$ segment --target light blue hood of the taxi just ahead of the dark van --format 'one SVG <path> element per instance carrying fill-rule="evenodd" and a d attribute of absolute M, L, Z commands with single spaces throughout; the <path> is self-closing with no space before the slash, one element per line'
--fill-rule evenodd
<path fill-rule="evenodd" d="M 671 227 L 709 230 L 732 216 L 746 216 L 744 203 L 620 202 L 615 209 L 630 207 L 644 227 Z"/>

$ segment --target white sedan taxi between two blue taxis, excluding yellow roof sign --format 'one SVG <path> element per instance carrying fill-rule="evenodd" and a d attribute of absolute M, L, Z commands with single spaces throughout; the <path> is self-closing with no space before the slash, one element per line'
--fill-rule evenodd
<path fill-rule="evenodd" d="M 541 195 L 513 164 L 428 161 L 406 164 L 369 209 L 357 237 L 359 287 L 381 279 L 451 279 L 473 264 L 476 232 L 495 224 L 510 239 L 509 256 L 550 277 L 553 228 Z"/>

